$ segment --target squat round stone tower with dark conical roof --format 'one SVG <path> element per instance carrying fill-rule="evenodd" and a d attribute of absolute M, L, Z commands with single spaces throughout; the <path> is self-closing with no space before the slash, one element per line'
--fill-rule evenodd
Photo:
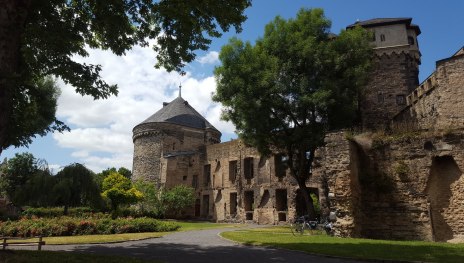
<path fill-rule="evenodd" d="M 220 143 L 221 133 L 179 94 L 173 101 L 132 130 L 134 142 L 133 180 L 162 182 L 164 156 L 199 153 L 205 146 Z"/>

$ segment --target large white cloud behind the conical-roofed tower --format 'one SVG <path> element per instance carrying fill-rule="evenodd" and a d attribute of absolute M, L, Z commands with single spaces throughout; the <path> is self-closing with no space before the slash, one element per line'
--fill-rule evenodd
<path fill-rule="evenodd" d="M 102 78 L 117 84 L 119 95 L 106 100 L 93 100 L 76 94 L 74 88 L 59 83 L 62 94 L 58 100 L 57 117 L 73 129 L 55 133 L 60 147 L 69 148 L 75 162 L 83 163 L 95 172 L 108 167 L 132 168 L 132 129 L 135 125 L 161 109 L 163 101 L 178 95 L 182 83 L 182 97 L 217 129 L 233 134 L 230 123 L 220 121 L 220 105 L 213 103 L 216 90 L 212 73 L 199 78 L 187 72 L 185 76 L 155 69 L 155 53 L 150 48 L 134 47 L 123 57 L 109 51 L 89 50 L 89 57 L 76 60 L 102 65 Z M 217 52 L 200 58 L 204 63 L 217 60 Z M 202 63 L 202 62 L 200 62 Z"/>

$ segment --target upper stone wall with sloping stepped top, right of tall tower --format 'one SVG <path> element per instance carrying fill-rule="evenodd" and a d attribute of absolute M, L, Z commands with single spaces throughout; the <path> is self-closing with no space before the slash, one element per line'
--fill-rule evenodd
<path fill-rule="evenodd" d="M 437 62 L 437 70 L 407 98 L 396 125 L 442 130 L 464 127 L 464 54 Z"/>

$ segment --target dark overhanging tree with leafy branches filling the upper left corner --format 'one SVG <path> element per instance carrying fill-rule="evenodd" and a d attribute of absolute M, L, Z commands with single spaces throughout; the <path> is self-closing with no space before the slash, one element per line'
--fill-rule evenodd
<path fill-rule="evenodd" d="M 218 28 L 241 31 L 250 5 L 250 0 L 0 0 L 0 153 L 18 143 L 7 140 L 16 121 L 27 121 L 12 118 L 21 111 L 15 96 L 24 100 L 46 76 L 60 77 L 95 99 L 117 94 L 116 85 L 100 78 L 100 65 L 73 60 L 87 56 L 86 48 L 122 55 L 155 40 L 156 67 L 181 71 L 196 50 L 206 50 L 212 37 L 221 36 Z M 35 133 L 63 130 L 62 123 L 52 123 Z"/>

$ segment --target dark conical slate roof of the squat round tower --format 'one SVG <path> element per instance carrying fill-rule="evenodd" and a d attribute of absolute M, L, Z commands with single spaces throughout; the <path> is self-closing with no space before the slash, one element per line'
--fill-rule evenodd
<path fill-rule="evenodd" d="M 163 108 L 140 124 L 152 122 L 165 122 L 198 129 L 209 128 L 218 131 L 181 96 L 169 103 L 163 103 Z"/>

